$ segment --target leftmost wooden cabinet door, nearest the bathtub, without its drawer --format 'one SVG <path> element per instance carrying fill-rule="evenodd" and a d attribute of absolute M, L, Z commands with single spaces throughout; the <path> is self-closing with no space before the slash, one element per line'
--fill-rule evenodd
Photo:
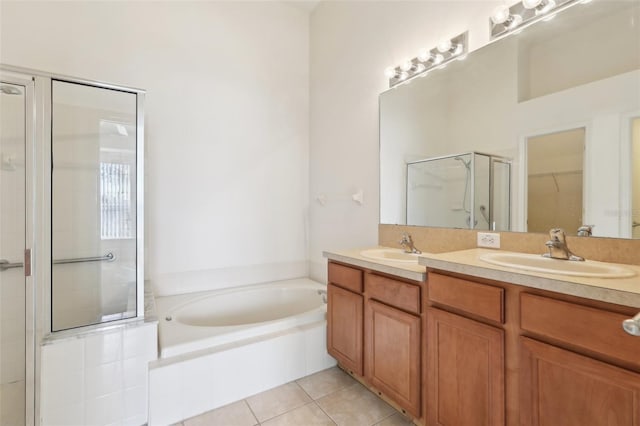
<path fill-rule="evenodd" d="M 327 351 L 362 376 L 363 297 L 333 284 L 327 293 Z"/>

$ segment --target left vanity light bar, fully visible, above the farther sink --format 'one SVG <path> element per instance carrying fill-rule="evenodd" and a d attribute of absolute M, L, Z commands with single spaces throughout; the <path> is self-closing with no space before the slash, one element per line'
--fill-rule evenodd
<path fill-rule="evenodd" d="M 464 58 L 468 49 L 467 34 L 464 32 L 451 39 L 443 40 L 431 50 L 422 49 L 415 58 L 384 70 L 384 75 L 389 79 L 389 87 L 397 86 L 417 75 L 426 75 L 428 71 L 443 67 L 453 59 Z"/>

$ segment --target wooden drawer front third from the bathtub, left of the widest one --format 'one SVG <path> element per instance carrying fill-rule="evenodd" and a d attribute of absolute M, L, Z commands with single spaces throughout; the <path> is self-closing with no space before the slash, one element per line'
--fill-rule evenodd
<path fill-rule="evenodd" d="M 491 321 L 504 323 L 504 289 L 429 273 L 429 300 Z"/>

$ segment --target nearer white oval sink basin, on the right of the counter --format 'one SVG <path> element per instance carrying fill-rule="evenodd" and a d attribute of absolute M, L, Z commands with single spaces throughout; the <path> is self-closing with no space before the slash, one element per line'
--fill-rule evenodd
<path fill-rule="evenodd" d="M 480 260 L 508 268 L 576 277 L 628 278 L 636 275 L 630 269 L 611 263 L 550 259 L 536 254 L 496 252 L 483 254 Z"/>

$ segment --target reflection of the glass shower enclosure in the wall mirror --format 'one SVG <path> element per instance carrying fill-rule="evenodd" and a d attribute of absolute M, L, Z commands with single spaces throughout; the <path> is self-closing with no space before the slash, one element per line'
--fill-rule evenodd
<path fill-rule="evenodd" d="M 407 163 L 407 224 L 509 230 L 511 162 L 479 152 Z"/>

